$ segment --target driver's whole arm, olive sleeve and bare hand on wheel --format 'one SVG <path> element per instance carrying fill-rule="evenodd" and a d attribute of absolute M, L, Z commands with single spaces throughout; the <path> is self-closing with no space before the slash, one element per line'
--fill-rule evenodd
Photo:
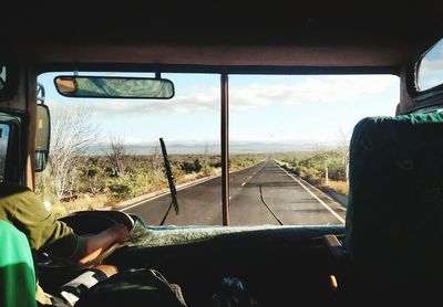
<path fill-rule="evenodd" d="M 52 257 L 86 263 L 130 236 L 122 225 L 89 237 L 80 236 L 48 212 L 35 193 L 23 186 L 2 183 L 0 202 L 0 219 L 23 232 L 32 250 L 48 252 Z"/>

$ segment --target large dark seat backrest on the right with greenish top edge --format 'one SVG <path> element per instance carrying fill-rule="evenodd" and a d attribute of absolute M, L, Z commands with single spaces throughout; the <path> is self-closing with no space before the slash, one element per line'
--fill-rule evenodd
<path fill-rule="evenodd" d="M 350 145 L 346 248 L 384 290 L 443 285 L 443 115 L 364 118 Z"/>

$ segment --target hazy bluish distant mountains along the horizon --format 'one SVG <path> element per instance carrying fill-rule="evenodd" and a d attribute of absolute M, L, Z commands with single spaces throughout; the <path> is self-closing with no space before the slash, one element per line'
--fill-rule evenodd
<path fill-rule="evenodd" d="M 220 145 L 210 142 L 166 142 L 166 149 L 168 154 L 219 154 Z M 230 154 L 272 154 L 272 152 L 285 152 L 285 151 L 313 151 L 319 149 L 332 149 L 337 145 L 333 144 L 309 144 L 309 142 L 247 142 L 247 141 L 231 141 L 229 142 Z M 152 144 L 140 144 L 140 145 L 126 145 L 126 151 L 132 155 L 150 155 L 155 149 L 159 150 L 159 142 Z M 110 144 L 96 144 L 89 148 L 87 154 L 90 155 L 103 155 L 111 151 Z"/>

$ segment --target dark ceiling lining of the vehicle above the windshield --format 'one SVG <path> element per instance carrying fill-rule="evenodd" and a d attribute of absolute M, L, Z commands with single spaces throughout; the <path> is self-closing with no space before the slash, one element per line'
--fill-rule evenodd
<path fill-rule="evenodd" d="M 31 63 L 400 67 L 443 36 L 443 3 L 427 0 L 14 4 L 3 23 L 21 27 L 2 41 Z"/>

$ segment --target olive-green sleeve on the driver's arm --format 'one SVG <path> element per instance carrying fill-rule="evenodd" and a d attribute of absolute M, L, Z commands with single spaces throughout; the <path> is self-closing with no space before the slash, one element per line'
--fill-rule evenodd
<path fill-rule="evenodd" d="M 0 218 L 3 214 L 6 220 L 23 232 L 32 250 L 71 261 L 78 261 L 85 255 L 85 239 L 76 235 L 65 223 L 58 221 L 28 188 L 2 186 L 0 204 Z"/>

